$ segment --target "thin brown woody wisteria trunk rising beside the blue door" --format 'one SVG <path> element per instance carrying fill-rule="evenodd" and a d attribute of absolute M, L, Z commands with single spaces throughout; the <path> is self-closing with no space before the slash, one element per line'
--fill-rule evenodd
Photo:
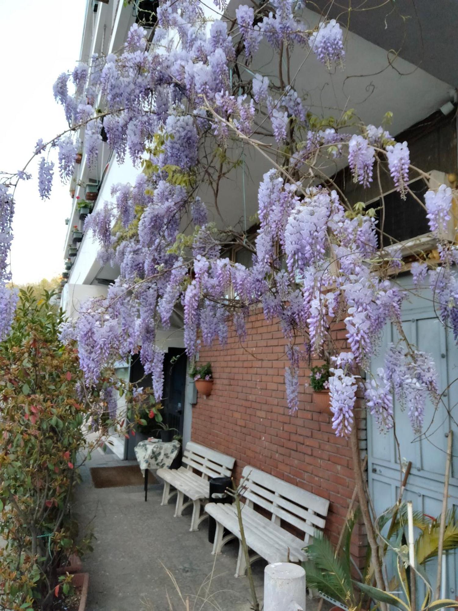
<path fill-rule="evenodd" d="M 369 503 L 366 497 L 366 491 L 364 486 L 364 474 L 361 467 L 360 449 L 358 445 L 358 428 L 356 419 L 350 435 L 350 443 L 352 450 L 353 470 L 355 474 L 355 484 L 358 492 L 358 500 L 360 502 L 361 514 L 366 528 L 366 534 L 368 536 L 369 546 L 371 546 L 371 560 L 374 566 L 376 584 L 377 588 L 385 591 L 385 582 L 383 580 L 382 574 L 382 563 L 380 561 L 380 551 L 379 546 L 377 544 L 377 536 L 374 530 L 374 524 L 372 522 L 371 514 L 369 512 Z M 386 610 L 385 603 L 380 603 L 380 607 L 382 611 Z"/>

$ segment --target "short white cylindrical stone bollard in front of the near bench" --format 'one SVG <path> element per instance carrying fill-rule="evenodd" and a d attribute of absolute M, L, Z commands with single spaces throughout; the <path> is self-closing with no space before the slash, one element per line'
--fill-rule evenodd
<path fill-rule="evenodd" d="M 264 569 L 264 611 L 305 611 L 305 571 L 291 562 Z"/>

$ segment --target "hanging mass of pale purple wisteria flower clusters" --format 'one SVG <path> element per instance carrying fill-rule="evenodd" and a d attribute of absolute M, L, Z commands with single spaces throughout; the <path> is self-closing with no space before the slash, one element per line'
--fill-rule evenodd
<path fill-rule="evenodd" d="M 134 24 L 122 53 L 92 57 L 57 79 L 54 96 L 72 129 L 85 126 L 90 162 L 103 146 L 103 130 L 118 162 L 130 158 L 139 170 L 134 184 L 114 185 L 112 201 L 98 202 L 85 224 L 100 244 L 101 263 L 118 266 L 120 276 L 106 298 L 82 307 L 62 337 L 77 340 L 89 383 L 107 361 L 139 353 L 160 400 L 159 327 L 181 317 L 192 359 L 201 343 L 218 339 L 224 345 L 230 324 L 243 341 L 250 308 L 261 304 L 268 320 L 280 320 L 289 342 L 285 387 L 292 412 L 300 408 L 300 367 L 310 357 L 327 358 L 337 435 L 352 430 L 358 390 L 381 430 L 393 426 L 393 397 L 420 430 L 426 401 L 438 401 L 427 354 L 391 346 L 385 367 L 365 381 L 360 377 L 379 351 L 387 323 L 402 327 L 405 294 L 392 275 L 399 261 L 380 251 L 374 211 L 352 206 L 321 171 L 314 172 L 325 156 L 343 160 L 354 181 L 368 187 L 376 167 L 385 164 L 402 205 L 409 191 L 407 143 L 395 142 L 382 126 L 320 122 L 304 106 L 307 92 L 289 81 L 295 47 L 302 54 L 304 48 L 313 51 L 324 71 L 343 63 L 343 31 L 335 20 L 307 29 L 291 0 L 271 0 L 256 13 L 241 5 L 235 16 L 232 23 L 221 18 L 209 25 L 197 1 L 160 2 L 152 42 Z M 278 78 L 241 70 L 243 62 L 255 63 L 264 46 L 279 57 Z M 68 134 L 51 144 L 59 151 L 60 177 L 68 180 L 76 144 Z M 43 155 L 43 198 L 54 171 L 46 147 L 40 140 L 35 150 Z M 249 148 L 271 161 L 258 188 L 252 240 L 246 227 L 225 222 L 218 206 L 224 180 L 229 188 L 236 170 L 247 175 Z M 1 196 L 6 202 L 6 191 Z M 445 186 L 427 192 L 427 219 L 441 262 L 429 269 L 418 260 L 412 273 L 417 286 L 430 277 L 440 317 L 458 337 L 458 257 L 445 238 L 452 199 Z M 242 211 L 242 202 L 234 205 Z M 252 252 L 252 266 L 224 256 L 233 244 Z M 331 332 L 339 322 L 346 338 L 336 345 Z"/>

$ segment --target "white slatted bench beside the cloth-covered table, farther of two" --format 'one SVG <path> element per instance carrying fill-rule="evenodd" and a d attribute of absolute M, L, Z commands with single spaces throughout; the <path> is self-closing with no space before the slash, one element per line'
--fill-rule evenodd
<path fill-rule="evenodd" d="M 157 475 L 164 480 L 164 491 L 162 492 L 161 505 L 167 505 L 170 498 L 177 494 L 175 506 L 175 518 L 181 516 L 188 505 L 192 509 L 191 532 L 198 530 L 198 525 L 208 515 L 200 515 L 200 507 L 209 497 L 209 478 L 231 477 L 235 458 L 211 450 L 205 445 L 187 442 L 184 448 L 183 459 L 179 469 L 158 469 Z M 198 471 L 200 475 L 194 473 Z M 175 490 L 170 491 L 170 486 Z M 189 500 L 184 503 L 184 497 Z"/>

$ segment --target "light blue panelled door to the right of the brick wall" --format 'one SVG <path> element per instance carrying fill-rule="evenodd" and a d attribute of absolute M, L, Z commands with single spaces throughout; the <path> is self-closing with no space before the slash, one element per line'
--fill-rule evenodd
<path fill-rule="evenodd" d="M 403 284 L 407 287 L 409 279 Z M 398 452 L 394 432 L 380 434 L 368 415 L 368 470 L 369 489 L 374 499 L 377 515 L 394 505 L 400 488 L 399 462 L 412 461 L 404 500 L 412 500 L 414 510 L 438 516 L 442 510 L 442 492 L 445 474 L 445 458 L 448 431 L 453 430 L 453 467 L 449 484 L 449 508 L 458 510 L 458 348 L 453 334 L 448 332 L 434 315 L 430 300 L 412 297 L 403 309 L 404 330 L 409 342 L 418 349 L 432 354 L 438 368 L 440 390 L 449 387 L 442 404 L 436 411 L 429 404 L 421 436 L 413 434 L 407 411 L 394 405 L 396 437 L 400 445 Z M 383 334 L 380 357 L 373 359 L 371 369 L 381 367 L 382 355 L 390 342 L 396 343 L 397 331 L 393 325 Z M 457 511 L 458 516 L 458 511 Z M 454 599 L 458 587 L 458 554 L 449 552 L 446 558 L 446 598 Z M 437 561 L 431 561 L 427 573 L 435 587 Z"/>

